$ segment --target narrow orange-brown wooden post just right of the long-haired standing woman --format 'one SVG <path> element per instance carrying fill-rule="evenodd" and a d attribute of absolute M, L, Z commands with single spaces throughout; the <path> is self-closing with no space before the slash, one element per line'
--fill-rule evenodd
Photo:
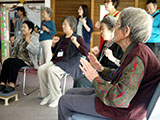
<path fill-rule="evenodd" d="M 93 26 L 94 26 L 94 2 L 95 2 L 95 0 L 91 0 L 91 20 L 92 20 Z M 93 48 L 93 37 L 94 37 L 94 35 L 92 33 L 90 48 Z"/>

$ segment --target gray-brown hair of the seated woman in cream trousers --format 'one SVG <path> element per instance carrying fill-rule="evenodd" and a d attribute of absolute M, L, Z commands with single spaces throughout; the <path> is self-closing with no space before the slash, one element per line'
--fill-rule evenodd
<path fill-rule="evenodd" d="M 71 27 L 71 29 L 73 30 L 73 32 L 76 32 L 76 28 L 77 28 L 77 19 L 74 16 L 66 16 L 63 18 L 62 23 L 67 20 L 69 23 L 69 26 Z"/>

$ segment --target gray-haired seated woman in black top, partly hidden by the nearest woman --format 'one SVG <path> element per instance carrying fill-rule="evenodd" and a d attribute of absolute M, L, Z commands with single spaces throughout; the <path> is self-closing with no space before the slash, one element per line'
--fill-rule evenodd
<path fill-rule="evenodd" d="M 103 43 L 100 53 L 96 52 L 96 48 L 91 49 L 95 55 L 98 54 L 97 59 L 104 67 L 117 68 L 119 66 L 119 62 L 118 64 L 116 62 L 121 59 L 123 54 L 120 46 L 112 41 L 116 24 L 117 19 L 115 17 L 108 16 L 104 18 L 101 21 L 101 35 L 105 42 Z M 105 53 L 107 52 L 111 52 L 111 54 L 113 54 L 105 56 Z M 102 75 L 100 76 L 103 77 Z M 107 80 L 106 78 L 103 79 Z M 74 87 L 93 87 L 93 83 L 90 82 L 85 75 L 82 75 L 74 80 Z"/>

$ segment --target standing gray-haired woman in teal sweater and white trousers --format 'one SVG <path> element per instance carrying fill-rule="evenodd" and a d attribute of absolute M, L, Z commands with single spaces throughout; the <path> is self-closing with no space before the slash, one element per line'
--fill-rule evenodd
<path fill-rule="evenodd" d="M 42 9 L 42 17 L 44 20 L 41 22 L 39 41 L 42 47 L 42 53 L 40 56 L 40 64 L 49 62 L 52 58 L 52 35 L 56 35 L 56 27 L 51 20 L 52 9 L 44 7 Z"/>

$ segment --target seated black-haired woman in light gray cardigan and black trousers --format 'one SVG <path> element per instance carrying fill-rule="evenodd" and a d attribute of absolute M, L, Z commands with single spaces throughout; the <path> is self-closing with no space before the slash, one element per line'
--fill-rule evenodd
<path fill-rule="evenodd" d="M 24 66 L 37 65 L 37 54 L 39 53 L 38 38 L 32 36 L 34 24 L 31 21 L 22 23 L 21 37 L 16 37 L 11 56 L 2 65 L 0 75 L 0 91 L 9 93 L 15 90 L 18 71 Z M 8 83 L 8 84 L 7 84 Z"/>

